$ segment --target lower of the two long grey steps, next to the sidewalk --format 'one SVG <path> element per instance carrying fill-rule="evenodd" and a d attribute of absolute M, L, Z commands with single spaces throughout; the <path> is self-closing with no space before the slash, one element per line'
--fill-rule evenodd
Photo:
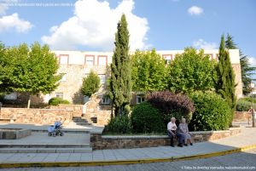
<path fill-rule="evenodd" d="M 0 153 L 89 153 L 92 149 L 85 148 L 0 148 Z"/>

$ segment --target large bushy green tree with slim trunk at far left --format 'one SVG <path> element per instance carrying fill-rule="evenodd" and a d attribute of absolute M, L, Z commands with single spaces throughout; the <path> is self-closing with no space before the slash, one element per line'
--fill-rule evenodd
<path fill-rule="evenodd" d="M 29 93 L 28 108 L 32 94 L 49 94 L 61 79 L 61 75 L 56 74 L 59 65 L 55 54 L 47 45 L 39 43 L 33 43 L 31 48 L 25 43 L 8 48 L 2 66 L 9 66 L 10 72 L 2 81 L 8 89 L 1 86 L 1 91 Z"/>

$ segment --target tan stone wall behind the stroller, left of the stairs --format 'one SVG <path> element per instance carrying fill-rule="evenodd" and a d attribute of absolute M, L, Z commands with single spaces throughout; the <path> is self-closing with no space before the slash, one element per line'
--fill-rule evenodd
<path fill-rule="evenodd" d="M 0 118 L 15 119 L 15 123 L 53 124 L 60 118 L 64 124 L 72 121 L 73 111 L 64 109 L 2 108 Z"/>

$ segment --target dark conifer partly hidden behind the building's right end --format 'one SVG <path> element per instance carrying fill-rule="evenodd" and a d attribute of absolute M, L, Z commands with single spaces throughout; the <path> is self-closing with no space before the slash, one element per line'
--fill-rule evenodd
<path fill-rule="evenodd" d="M 234 42 L 234 37 L 230 36 L 230 34 L 227 35 L 225 46 L 229 49 L 238 48 L 236 43 Z M 239 50 L 239 55 L 241 65 L 241 82 L 243 84 L 242 94 L 247 95 L 250 93 L 249 84 L 252 83 L 252 81 L 255 81 L 252 76 L 255 75 L 256 67 L 252 67 L 250 65 L 247 55 L 242 54 L 241 49 Z"/>

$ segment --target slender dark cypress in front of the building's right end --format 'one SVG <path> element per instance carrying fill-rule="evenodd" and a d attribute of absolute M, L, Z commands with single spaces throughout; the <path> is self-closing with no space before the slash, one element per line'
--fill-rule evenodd
<path fill-rule="evenodd" d="M 230 105 L 230 123 L 236 108 L 236 83 L 235 74 L 230 62 L 230 53 L 225 49 L 224 35 L 221 37 L 218 49 L 217 83 L 216 92 L 220 94 Z"/>

